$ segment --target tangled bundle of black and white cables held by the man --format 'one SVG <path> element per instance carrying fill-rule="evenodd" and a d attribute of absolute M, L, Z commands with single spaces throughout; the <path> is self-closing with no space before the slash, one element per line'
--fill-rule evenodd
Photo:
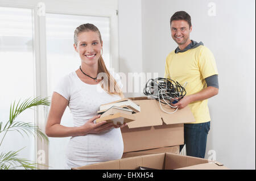
<path fill-rule="evenodd" d="M 185 88 L 179 82 L 175 82 L 170 78 L 160 77 L 149 79 L 143 92 L 145 95 L 151 96 L 159 100 L 159 102 L 168 105 L 175 104 L 186 95 Z"/>

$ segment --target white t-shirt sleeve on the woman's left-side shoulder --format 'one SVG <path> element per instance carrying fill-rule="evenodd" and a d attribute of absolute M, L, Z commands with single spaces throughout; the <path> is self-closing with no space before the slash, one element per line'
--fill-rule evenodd
<path fill-rule="evenodd" d="M 61 78 L 53 91 L 69 100 L 71 96 L 71 80 L 69 76 L 66 75 L 65 77 Z"/>

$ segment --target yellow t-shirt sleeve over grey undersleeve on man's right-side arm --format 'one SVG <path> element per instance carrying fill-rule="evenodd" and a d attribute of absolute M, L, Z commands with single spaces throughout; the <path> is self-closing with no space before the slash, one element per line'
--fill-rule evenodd
<path fill-rule="evenodd" d="M 203 47 L 200 51 L 199 68 L 204 79 L 211 75 L 218 75 L 215 58 L 207 47 Z"/>

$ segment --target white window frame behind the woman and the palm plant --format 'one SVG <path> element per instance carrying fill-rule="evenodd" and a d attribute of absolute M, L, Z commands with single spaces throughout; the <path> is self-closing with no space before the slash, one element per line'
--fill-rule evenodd
<path fill-rule="evenodd" d="M 33 19 L 33 54 L 34 54 L 34 75 L 35 75 L 35 95 L 48 96 L 47 92 L 47 59 L 46 59 L 46 16 L 38 15 L 42 10 L 38 3 L 44 3 L 45 13 L 84 15 L 84 16 L 103 16 L 110 19 L 110 68 L 115 72 L 119 71 L 119 52 L 118 52 L 118 0 L 1 0 L 2 7 L 16 7 L 32 9 Z M 84 5 L 84 6 L 81 6 Z M 42 12 L 42 11 L 41 11 Z M 38 107 L 35 109 L 35 124 L 45 132 L 49 107 Z M 43 120 L 43 121 L 42 121 Z M 45 152 L 45 165 L 48 165 L 48 145 L 38 138 L 35 139 L 35 161 L 38 162 L 38 153 Z M 46 167 L 38 166 L 39 169 Z"/>

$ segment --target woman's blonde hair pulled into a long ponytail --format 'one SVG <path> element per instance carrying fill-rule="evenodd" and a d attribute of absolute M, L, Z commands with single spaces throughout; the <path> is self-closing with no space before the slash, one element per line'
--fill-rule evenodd
<path fill-rule="evenodd" d="M 100 41 L 102 43 L 101 33 L 98 30 L 98 28 L 94 26 L 94 24 L 86 23 L 86 24 L 81 24 L 79 27 L 76 28 L 74 32 L 74 43 L 76 46 L 77 46 L 77 36 L 79 35 L 79 33 L 88 32 L 88 31 L 97 32 L 98 36 L 100 37 Z M 100 56 L 100 58 L 98 59 L 98 76 L 99 75 L 100 76 L 102 75 L 101 77 L 101 79 L 103 80 L 101 84 L 102 89 L 104 89 L 110 95 L 119 95 L 122 98 L 124 97 L 123 92 L 120 89 L 120 87 L 117 85 L 117 82 L 115 81 L 114 77 L 109 73 L 108 69 L 106 68 L 106 65 L 102 56 Z"/>

